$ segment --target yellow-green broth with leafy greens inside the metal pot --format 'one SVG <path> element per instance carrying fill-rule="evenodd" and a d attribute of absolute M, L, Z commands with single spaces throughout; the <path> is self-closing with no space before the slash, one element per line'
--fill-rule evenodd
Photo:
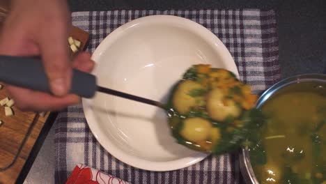
<path fill-rule="evenodd" d="M 261 107 L 269 118 L 249 153 L 260 183 L 326 183 L 325 86 L 294 84 Z"/>

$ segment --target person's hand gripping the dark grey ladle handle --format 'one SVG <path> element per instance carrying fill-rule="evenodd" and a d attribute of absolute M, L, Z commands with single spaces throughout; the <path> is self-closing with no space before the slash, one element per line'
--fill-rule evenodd
<path fill-rule="evenodd" d="M 67 38 L 70 16 L 65 0 L 14 0 L 0 38 L 0 54 L 41 56 L 54 95 L 7 85 L 22 110 L 52 111 L 79 102 L 70 90 L 72 68 L 90 72 L 90 54 L 69 59 Z"/>

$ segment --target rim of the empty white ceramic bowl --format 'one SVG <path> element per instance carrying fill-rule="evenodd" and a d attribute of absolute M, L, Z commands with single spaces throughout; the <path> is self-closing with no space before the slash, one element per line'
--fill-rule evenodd
<path fill-rule="evenodd" d="M 132 20 L 130 22 L 127 22 L 123 24 L 122 26 L 119 26 L 117 29 L 109 33 L 109 35 L 102 40 L 100 45 L 95 49 L 93 52 L 93 55 L 91 59 L 97 63 L 97 61 L 100 59 L 102 52 L 106 49 L 108 45 L 111 45 L 111 43 L 114 43 L 114 41 L 121 36 L 123 31 L 125 29 L 129 29 L 130 26 L 137 26 L 140 23 L 143 24 L 150 24 L 150 22 L 166 22 L 166 24 L 178 24 L 178 26 L 181 26 L 183 29 L 189 29 L 193 33 L 198 34 L 201 36 L 204 40 L 209 40 L 208 44 L 212 45 L 212 48 L 217 48 L 219 49 L 219 54 L 222 54 L 221 57 L 223 57 L 224 60 L 230 63 L 230 67 L 232 70 L 236 71 L 235 75 L 239 77 L 238 73 L 238 68 L 235 65 L 235 61 L 233 60 L 233 57 L 231 56 L 231 53 L 228 51 L 228 49 L 225 47 L 225 45 L 222 43 L 217 36 L 212 33 L 210 30 L 206 29 L 204 26 L 201 24 L 194 22 L 192 20 L 183 18 L 183 17 L 178 17 L 174 15 L 150 15 L 146 17 L 140 17 L 136 20 Z M 213 47 L 214 46 L 214 47 Z M 93 72 L 92 72 L 93 73 Z M 93 133 L 95 139 L 100 143 L 100 145 L 103 146 L 103 148 L 108 151 L 111 155 L 114 156 L 114 158 L 117 158 L 118 160 L 121 160 L 121 162 L 124 162 L 126 164 L 129 164 L 132 167 L 136 167 L 139 169 L 144 169 L 148 171 L 172 171 L 176 169 L 182 169 L 185 167 L 189 167 L 192 164 L 195 164 L 197 162 L 200 162 L 204 158 L 208 156 L 207 153 L 199 153 L 198 156 L 192 157 L 192 158 L 180 158 L 178 160 L 173 160 L 173 161 L 166 161 L 166 162 L 155 162 L 155 161 L 150 161 L 150 160 L 143 160 L 141 158 L 134 157 L 132 155 L 129 155 L 127 153 L 124 153 L 123 151 L 119 150 L 118 146 L 115 146 L 113 143 L 105 142 L 104 139 L 100 139 L 101 135 L 95 124 L 95 118 L 90 118 L 89 114 L 93 113 L 91 112 L 91 109 L 88 108 L 87 106 L 91 104 L 91 99 L 82 99 L 82 106 L 84 109 L 84 114 L 86 117 L 86 121 L 88 123 L 88 126 Z M 87 116 L 88 114 L 88 116 Z M 137 163 L 137 164 L 136 164 Z M 182 163 L 183 165 L 181 166 Z"/>

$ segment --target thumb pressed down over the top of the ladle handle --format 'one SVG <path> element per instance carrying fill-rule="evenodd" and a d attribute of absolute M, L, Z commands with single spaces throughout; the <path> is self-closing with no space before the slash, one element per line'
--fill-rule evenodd
<path fill-rule="evenodd" d="M 43 66 L 54 95 L 65 95 L 70 91 L 72 66 L 68 54 L 65 30 L 47 32 L 39 40 Z"/>

